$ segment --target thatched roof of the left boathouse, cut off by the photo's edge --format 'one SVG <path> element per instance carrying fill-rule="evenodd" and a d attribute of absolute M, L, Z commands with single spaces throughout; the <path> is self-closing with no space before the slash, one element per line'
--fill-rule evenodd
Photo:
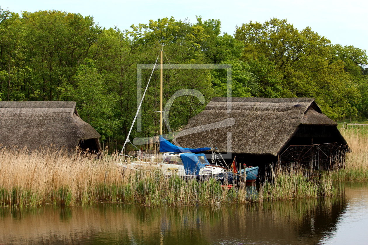
<path fill-rule="evenodd" d="M 73 101 L 0 101 L 0 144 L 74 149 L 80 140 L 100 138 L 79 117 L 75 105 Z"/>

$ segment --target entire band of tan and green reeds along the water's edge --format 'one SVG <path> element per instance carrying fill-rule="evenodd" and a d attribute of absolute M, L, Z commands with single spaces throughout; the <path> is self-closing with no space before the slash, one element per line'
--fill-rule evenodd
<path fill-rule="evenodd" d="M 165 178 L 115 164 L 117 155 L 99 158 L 75 151 L 0 149 L 0 206 L 89 205 L 99 202 L 158 205 L 218 205 L 282 199 L 330 197 L 340 194 L 333 181 L 368 180 L 368 128 L 341 129 L 351 148 L 343 168 L 313 177 L 294 166 L 276 166 L 257 187 L 240 181 L 223 189 L 214 179 Z"/>

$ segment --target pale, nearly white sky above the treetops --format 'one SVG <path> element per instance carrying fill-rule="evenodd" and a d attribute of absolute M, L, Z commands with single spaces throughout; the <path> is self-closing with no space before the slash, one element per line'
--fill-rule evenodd
<path fill-rule="evenodd" d="M 91 15 L 100 26 L 121 30 L 164 17 L 195 23 L 196 16 L 201 16 L 220 19 L 222 33 L 230 35 L 236 26 L 251 20 L 263 23 L 276 17 L 287 19 L 299 30 L 309 26 L 333 44 L 368 50 L 368 1 L 364 0 L 2 0 L 0 6 L 18 13 L 60 10 Z"/>

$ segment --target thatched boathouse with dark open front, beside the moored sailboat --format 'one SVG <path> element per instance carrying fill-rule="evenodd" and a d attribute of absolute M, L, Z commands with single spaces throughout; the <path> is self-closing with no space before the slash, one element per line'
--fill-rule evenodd
<path fill-rule="evenodd" d="M 319 169 L 337 163 L 348 150 L 337 123 L 322 114 L 314 98 L 231 98 L 227 102 L 215 97 L 175 140 L 187 148 L 208 144 L 253 166 L 298 162 Z"/>

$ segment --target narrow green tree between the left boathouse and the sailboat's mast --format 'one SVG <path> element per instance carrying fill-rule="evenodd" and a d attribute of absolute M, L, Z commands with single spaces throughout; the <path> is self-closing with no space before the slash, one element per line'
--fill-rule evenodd
<path fill-rule="evenodd" d="M 106 89 L 117 102 L 114 105 L 114 118 L 119 122 L 119 128 L 114 132 L 114 138 L 123 141 L 124 136 L 127 137 L 134 117 L 132 111 L 137 104 L 137 54 L 132 50 L 125 33 L 112 28 L 101 32 L 99 42 L 92 49 L 98 53 L 95 64 L 99 71 L 105 73 Z"/>

